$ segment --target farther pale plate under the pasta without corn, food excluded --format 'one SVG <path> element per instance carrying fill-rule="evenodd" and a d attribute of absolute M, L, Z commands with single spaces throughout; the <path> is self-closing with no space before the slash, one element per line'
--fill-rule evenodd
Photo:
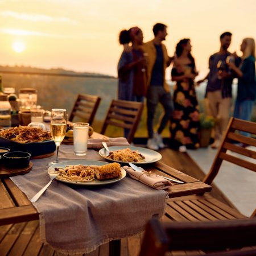
<path fill-rule="evenodd" d="M 144 147 L 133 147 L 133 146 L 128 146 L 128 147 L 131 150 L 138 150 L 139 153 L 142 154 L 145 157 L 145 161 L 143 161 L 143 162 L 130 162 L 130 163 L 134 163 L 134 164 L 148 164 L 148 163 L 158 162 L 160 159 L 162 159 L 162 155 L 159 154 L 159 152 L 156 152 L 154 150 L 150 150 L 150 149 L 144 148 Z M 127 146 L 113 146 L 113 147 L 109 147 L 109 151 L 121 150 L 123 148 L 127 148 Z M 129 162 L 123 162 L 123 161 L 109 159 L 105 155 L 105 148 L 101 148 L 101 150 L 98 151 L 98 154 L 100 154 L 102 156 L 102 158 L 105 158 L 105 159 L 110 160 L 112 162 L 129 163 Z"/>

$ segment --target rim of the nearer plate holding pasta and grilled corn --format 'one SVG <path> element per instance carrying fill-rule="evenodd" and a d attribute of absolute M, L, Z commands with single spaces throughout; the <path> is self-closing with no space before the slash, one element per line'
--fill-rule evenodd
<path fill-rule="evenodd" d="M 59 163 L 56 163 L 56 164 L 52 164 L 52 166 L 49 166 L 48 170 L 47 170 L 47 173 L 49 174 L 49 170 L 53 167 L 53 166 L 56 166 L 57 164 L 62 164 L 62 163 L 67 163 L 67 162 L 100 162 L 102 163 L 102 166 L 104 164 L 108 164 L 108 162 L 104 162 L 104 161 L 100 161 L 100 160 L 86 160 L 86 159 L 75 159 L 75 160 L 65 160 L 65 161 L 61 161 Z M 126 176 L 126 171 L 125 169 L 123 169 L 121 167 L 121 177 L 118 177 L 116 179 L 112 179 L 112 180 L 104 180 L 104 181 L 101 181 L 101 180 L 97 180 L 98 183 L 91 183 L 91 182 L 94 182 L 94 181 L 89 181 L 89 182 L 79 182 L 79 181 L 69 181 L 69 180 L 61 180 L 61 179 L 58 179 L 58 177 L 56 177 L 55 179 L 58 180 L 58 181 L 61 181 L 63 183 L 68 183 L 68 184 L 72 184 L 72 185 L 85 185 L 85 186 L 98 186 L 98 185 L 108 185 L 108 184 L 112 184 L 112 183 L 115 183 L 115 182 L 118 182 L 122 179 L 125 178 Z"/>

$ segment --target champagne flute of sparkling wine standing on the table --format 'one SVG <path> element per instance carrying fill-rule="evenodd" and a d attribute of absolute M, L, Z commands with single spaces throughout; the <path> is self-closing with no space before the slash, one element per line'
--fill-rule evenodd
<path fill-rule="evenodd" d="M 53 162 L 48 163 L 48 166 L 58 163 L 58 154 L 60 143 L 65 137 L 67 129 L 67 110 L 65 109 L 52 109 L 51 113 L 51 136 L 56 144 L 56 157 Z"/>

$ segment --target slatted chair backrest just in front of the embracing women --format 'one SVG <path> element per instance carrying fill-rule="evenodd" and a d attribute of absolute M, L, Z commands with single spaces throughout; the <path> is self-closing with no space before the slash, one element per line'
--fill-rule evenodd
<path fill-rule="evenodd" d="M 129 129 L 127 141 L 133 142 L 135 131 L 137 130 L 143 110 L 142 102 L 112 100 L 101 134 L 105 134 L 108 125 Z"/>

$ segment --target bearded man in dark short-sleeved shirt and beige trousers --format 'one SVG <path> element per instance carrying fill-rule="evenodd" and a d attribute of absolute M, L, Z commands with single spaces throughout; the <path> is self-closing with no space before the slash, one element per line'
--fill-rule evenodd
<path fill-rule="evenodd" d="M 216 118 L 214 126 L 214 142 L 212 148 L 218 148 L 222 135 L 229 122 L 229 112 L 232 100 L 233 75 L 229 73 L 226 59 L 231 53 L 228 51 L 232 39 L 230 32 L 224 32 L 220 36 L 220 51 L 209 57 L 209 73 L 200 84 L 208 79 L 206 97 L 208 99 L 210 115 Z"/>

